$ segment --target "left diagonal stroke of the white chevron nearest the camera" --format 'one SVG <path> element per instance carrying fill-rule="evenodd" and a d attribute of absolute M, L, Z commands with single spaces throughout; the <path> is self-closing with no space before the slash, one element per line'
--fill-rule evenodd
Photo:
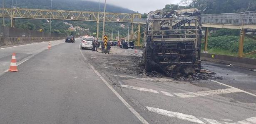
<path fill-rule="evenodd" d="M 179 113 L 179 112 L 171 112 L 171 111 L 162 110 L 162 109 L 155 108 L 155 107 L 146 106 L 146 108 L 150 112 L 155 112 L 155 113 L 158 113 L 158 114 L 162 114 L 162 115 L 169 116 L 169 117 L 175 117 L 175 118 L 190 121 L 190 122 L 196 122 L 196 123 L 199 123 L 199 124 L 205 124 L 200 119 L 198 119 L 198 118 L 196 118 L 192 115 L 183 114 L 183 113 Z"/>

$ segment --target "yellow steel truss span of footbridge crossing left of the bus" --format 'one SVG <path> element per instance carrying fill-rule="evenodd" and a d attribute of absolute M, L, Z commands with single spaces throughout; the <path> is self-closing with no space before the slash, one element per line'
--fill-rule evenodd
<path fill-rule="evenodd" d="M 37 9 L 5 9 L 0 8 L 0 18 L 22 19 L 55 19 L 74 21 L 103 21 L 104 12 L 82 12 L 65 10 L 37 10 Z M 106 12 L 105 21 L 132 23 L 133 19 L 141 18 L 141 14 L 109 13 Z"/>

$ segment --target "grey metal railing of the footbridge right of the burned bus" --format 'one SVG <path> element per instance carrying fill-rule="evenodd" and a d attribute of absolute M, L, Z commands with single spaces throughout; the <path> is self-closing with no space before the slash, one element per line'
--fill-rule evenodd
<path fill-rule="evenodd" d="M 203 14 L 202 24 L 256 25 L 256 11 L 241 13 Z"/>

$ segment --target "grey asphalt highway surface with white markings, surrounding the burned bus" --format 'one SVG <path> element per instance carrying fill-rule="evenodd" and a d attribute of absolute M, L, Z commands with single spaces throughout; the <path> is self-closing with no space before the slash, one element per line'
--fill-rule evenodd
<path fill-rule="evenodd" d="M 142 50 L 80 40 L 0 48 L 0 124 L 256 124 L 256 72 L 203 62 L 218 78 L 152 77 Z M 12 52 L 18 72 L 6 72 Z"/>

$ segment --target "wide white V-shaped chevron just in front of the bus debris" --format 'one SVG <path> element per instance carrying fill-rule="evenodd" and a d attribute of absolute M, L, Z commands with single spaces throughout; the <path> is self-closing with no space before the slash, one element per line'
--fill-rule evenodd
<path fill-rule="evenodd" d="M 228 93 L 239 93 L 241 92 L 240 90 L 237 90 L 235 88 L 227 88 L 227 89 L 218 89 L 218 90 L 209 90 L 209 91 L 196 91 L 196 92 L 187 92 L 187 93 L 173 93 L 172 95 L 169 92 L 166 91 L 157 91 L 153 89 L 147 89 L 147 88 L 141 88 L 141 87 L 135 87 L 135 86 L 128 86 L 128 85 L 122 85 L 121 87 L 124 88 L 130 88 L 134 90 L 139 90 L 139 91 L 147 91 L 147 92 L 152 92 L 152 93 L 163 93 L 164 95 L 175 97 L 176 95 L 179 98 L 192 98 L 192 97 L 199 97 L 199 96 L 211 96 L 211 95 L 221 95 L 221 94 L 228 94 Z"/>

